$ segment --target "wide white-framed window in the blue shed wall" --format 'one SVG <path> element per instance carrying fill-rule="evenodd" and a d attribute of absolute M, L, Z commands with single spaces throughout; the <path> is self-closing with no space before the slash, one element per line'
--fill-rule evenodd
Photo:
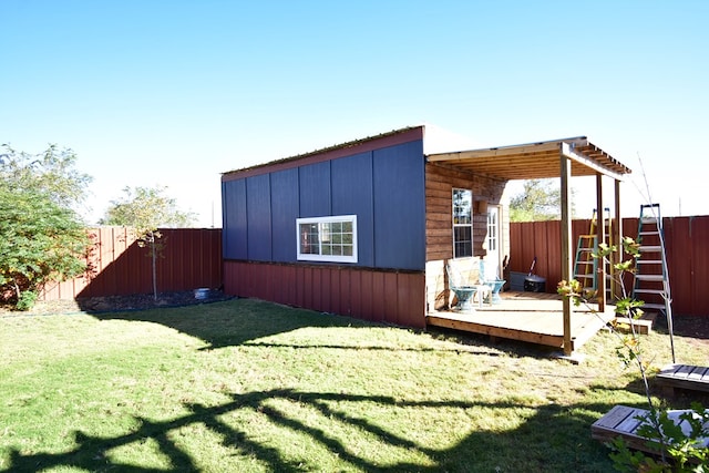
<path fill-rule="evenodd" d="M 297 218 L 298 260 L 357 263 L 357 215 Z"/>

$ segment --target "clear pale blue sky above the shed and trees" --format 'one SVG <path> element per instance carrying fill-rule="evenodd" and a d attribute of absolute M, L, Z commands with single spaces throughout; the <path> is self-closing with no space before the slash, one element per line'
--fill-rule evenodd
<path fill-rule="evenodd" d="M 634 169 L 624 216 L 647 189 L 709 214 L 707 1 L 1 0 L 0 21 L 0 143 L 74 150 L 89 222 L 165 185 L 220 226 L 222 172 L 421 123 L 586 135 Z"/>

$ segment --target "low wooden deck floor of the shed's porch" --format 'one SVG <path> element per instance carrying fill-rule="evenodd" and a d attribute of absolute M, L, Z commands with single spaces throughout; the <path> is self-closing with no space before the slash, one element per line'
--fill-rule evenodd
<path fill-rule="evenodd" d="M 501 304 L 485 304 L 483 308 L 475 305 L 472 312 L 430 312 L 427 325 L 564 348 L 564 313 L 559 296 L 514 291 L 503 292 L 501 296 Z M 572 308 L 572 351 L 577 350 L 615 317 L 613 309 L 607 306 L 604 313 L 594 313 L 583 306 Z"/>

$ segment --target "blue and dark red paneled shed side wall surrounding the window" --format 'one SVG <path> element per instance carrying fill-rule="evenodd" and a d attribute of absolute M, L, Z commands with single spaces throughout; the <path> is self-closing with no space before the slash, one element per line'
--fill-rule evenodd
<path fill-rule="evenodd" d="M 223 176 L 225 290 L 425 326 L 423 130 Z M 296 219 L 357 215 L 358 261 L 297 260 Z"/>

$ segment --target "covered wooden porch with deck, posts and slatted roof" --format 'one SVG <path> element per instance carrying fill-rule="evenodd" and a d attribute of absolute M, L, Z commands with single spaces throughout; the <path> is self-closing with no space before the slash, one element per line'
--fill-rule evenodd
<path fill-rule="evenodd" d="M 630 169 L 608 153 L 588 141 L 586 136 L 545 141 L 514 146 L 471 150 L 453 153 L 438 153 L 427 156 L 431 164 L 456 168 L 462 172 L 490 176 L 508 182 L 515 179 L 559 178 L 561 185 L 561 235 L 558 239 L 561 255 L 561 276 L 571 280 L 573 276 L 575 241 L 572 241 L 572 193 L 571 178 L 575 176 L 595 176 L 596 208 L 613 208 L 616 220 L 620 218 L 620 182 Z M 603 202 L 604 178 L 613 181 L 614 203 Z M 603 213 L 598 214 L 596 240 L 606 241 Z M 619 240 L 623 229 L 614 227 L 615 241 Z M 616 258 L 621 259 L 618 249 Z M 620 260 L 616 259 L 616 260 Z M 428 268 L 433 266 L 429 259 Z M 446 260 L 441 261 L 448 264 Z M 556 280 L 547 281 L 555 288 Z M 483 307 L 472 312 L 429 310 L 427 325 L 453 328 L 491 337 L 528 341 L 561 348 L 571 356 L 585 341 L 595 335 L 607 321 L 614 318 L 613 308 L 606 307 L 606 280 L 598 278 L 599 295 L 595 312 L 573 307 L 568 299 L 555 294 L 538 292 L 503 294 L 503 301 L 492 307 Z"/>

